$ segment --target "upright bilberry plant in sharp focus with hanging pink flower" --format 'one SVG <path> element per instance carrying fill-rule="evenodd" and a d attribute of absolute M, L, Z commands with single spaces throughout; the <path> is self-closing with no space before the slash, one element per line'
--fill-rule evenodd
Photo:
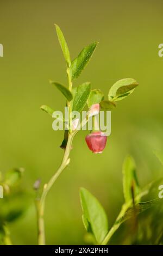
<path fill-rule="evenodd" d="M 73 87 L 73 81 L 80 76 L 86 65 L 90 62 L 98 42 L 93 42 L 92 44 L 84 47 L 83 50 L 79 53 L 78 57 L 72 61 L 66 40 L 64 38 L 64 34 L 58 25 L 55 25 L 55 28 L 57 31 L 61 50 L 66 60 L 66 73 L 68 82 L 67 86 L 64 86 L 61 83 L 55 81 L 50 81 L 50 83 L 52 86 L 57 88 L 62 93 L 62 95 L 65 96 L 66 106 L 69 109 L 69 120 L 68 129 L 65 130 L 64 139 L 60 145 L 60 147 L 64 149 L 64 155 L 62 157 L 61 164 L 52 178 L 43 186 L 41 195 L 37 195 L 36 197 L 39 245 L 45 245 L 44 212 L 47 194 L 54 185 L 54 182 L 59 178 L 62 171 L 70 163 L 70 152 L 72 149 L 73 138 L 79 130 L 77 129 L 77 125 L 74 123 L 74 120 L 72 120 L 72 111 L 82 112 L 83 108 L 87 105 L 87 115 L 85 119 L 79 123 L 80 127 L 83 127 L 91 117 L 95 117 L 95 115 L 99 114 L 100 110 L 110 111 L 111 109 L 114 109 L 116 107 L 117 101 L 120 101 L 133 93 L 135 87 L 138 86 L 138 83 L 133 78 L 126 78 L 117 81 L 110 88 L 108 99 L 104 99 L 104 94 L 100 89 L 91 89 L 90 82 L 84 82 L 77 87 Z M 53 108 L 43 105 L 41 106 L 41 109 L 51 116 L 53 115 Z M 64 122 L 64 120 L 62 121 Z M 102 153 L 106 145 L 106 135 L 101 132 L 100 129 L 99 131 L 92 129 L 90 132 L 91 133 L 85 138 L 89 149 L 93 153 Z M 37 185 L 38 186 L 36 186 L 36 190 L 37 188 L 39 189 L 39 182 L 37 182 Z"/>

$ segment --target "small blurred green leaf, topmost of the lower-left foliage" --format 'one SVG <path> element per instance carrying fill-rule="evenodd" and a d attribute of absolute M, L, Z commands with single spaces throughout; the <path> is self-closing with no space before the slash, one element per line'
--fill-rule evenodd
<path fill-rule="evenodd" d="M 4 184 L 8 185 L 9 187 L 15 186 L 17 182 L 19 182 L 22 178 L 24 169 L 23 168 L 15 168 L 11 169 L 5 175 Z"/>

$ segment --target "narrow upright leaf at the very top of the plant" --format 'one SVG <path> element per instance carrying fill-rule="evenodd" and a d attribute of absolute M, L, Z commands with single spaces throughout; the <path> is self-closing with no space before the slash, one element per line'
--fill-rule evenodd
<path fill-rule="evenodd" d="M 64 38 L 64 34 L 62 33 L 60 27 L 57 24 L 55 24 L 55 28 L 57 31 L 58 40 L 59 40 L 62 52 L 64 53 L 64 57 L 65 57 L 67 66 L 70 67 L 70 65 L 71 65 L 70 52 L 68 50 L 68 46 L 67 46 L 66 40 Z"/>

